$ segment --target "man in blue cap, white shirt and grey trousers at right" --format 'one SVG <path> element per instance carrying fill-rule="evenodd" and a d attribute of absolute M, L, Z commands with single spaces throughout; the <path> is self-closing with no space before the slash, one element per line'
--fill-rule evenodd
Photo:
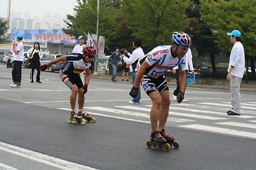
<path fill-rule="evenodd" d="M 240 84 L 244 75 L 244 47 L 241 43 L 240 31 L 235 29 L 227 35 L 230 36 L 230 41 L 234 43 L 230 52 L 227 75 L 227 80 L 230 81 L 232 107 L 227 111 L 227 114 L 239 116 L 241 115 Z"/>

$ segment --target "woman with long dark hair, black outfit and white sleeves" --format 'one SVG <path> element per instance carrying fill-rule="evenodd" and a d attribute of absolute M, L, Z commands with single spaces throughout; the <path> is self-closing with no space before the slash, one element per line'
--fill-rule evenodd
<path fill-rule="evenodd" d="M 38 42 L 34 43 L 34 46 L 28 50 L 27 55 L 29 56 L 30 62 L 30 82 L 34 82 L 33 76 L 35 70 L 37 71 L 36 74 L 36 82 L 42 83 L 40 81 L 40 60 L 43 58 L 42 49 L 40 49 L 40 44 Z"/>

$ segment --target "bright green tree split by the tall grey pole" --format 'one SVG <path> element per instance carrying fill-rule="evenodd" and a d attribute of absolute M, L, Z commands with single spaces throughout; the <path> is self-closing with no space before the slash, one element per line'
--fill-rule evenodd
<path fill-rule="evenodd" d="M 116 45 L 116 29 L 118 27 L 118 19 L 121 17 L 120 12 L 121 0 L 100 1 L 100 20 L 99 35 L 104 36 L 105 49 L 114 49 Z M 63 29 L 69 35 L 79 36 L 84 33 L 96 33 L 97 24 L 97 1 L 95 0 L 77 0 L 74 15 L 67 15 L 65 20 L 68 25 L 67 29 Z"/>

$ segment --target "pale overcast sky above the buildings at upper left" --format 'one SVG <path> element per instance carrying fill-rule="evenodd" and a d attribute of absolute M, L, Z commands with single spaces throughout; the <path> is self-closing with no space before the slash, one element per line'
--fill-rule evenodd
<path fill-rule="evenodd" d="M 0 0 L 0 17 L 6 18 L 8 11 L 8 0 Z M 42 17 L 45 12 L 74 14 L 76 0 L 11 0 L 11 12 L 28 12 L 31 17 Z"/>

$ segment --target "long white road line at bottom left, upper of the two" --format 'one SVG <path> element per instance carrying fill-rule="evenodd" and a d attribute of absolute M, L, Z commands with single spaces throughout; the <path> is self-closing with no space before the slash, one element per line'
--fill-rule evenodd
<path fill-rule="evenodd" d="M 7 151 L 15 155 L 19 155 L 20 157 L 29 158 L 31 160 L 35 160 L 37 162 L 41 162 L 52 167 L 58 167 L 60 169 L 94 169 L 92 167 L 83 166 L 80 164 L 69 162 L 67 160 L 62 160 L 60 158 L 54 158 L 49 155 L 45 155 L 31 150 L 26 150 L 24 148 L 20 148 L 18 146 L 13 146 L 11 144 L 6 144 L 2 142 L 0 142 L 0 150 Z"/>

